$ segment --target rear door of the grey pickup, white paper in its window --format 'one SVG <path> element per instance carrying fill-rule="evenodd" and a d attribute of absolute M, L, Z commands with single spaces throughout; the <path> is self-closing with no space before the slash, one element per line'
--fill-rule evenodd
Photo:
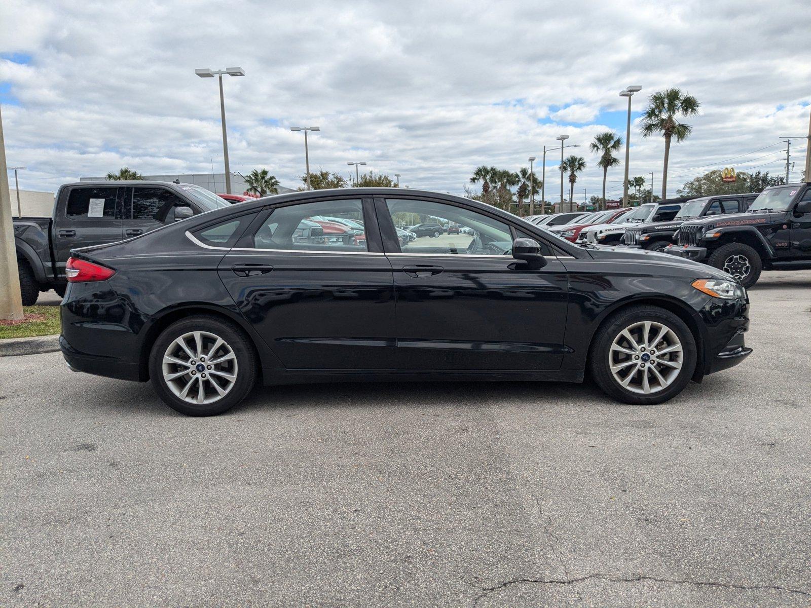
<path fill-rule="evenodd" d="M 54 218 L 56 274 L 65 276 L 71 249 L 122 239 L 121 195 L 118 186 L 71 186 L 60 195 Z"/>

